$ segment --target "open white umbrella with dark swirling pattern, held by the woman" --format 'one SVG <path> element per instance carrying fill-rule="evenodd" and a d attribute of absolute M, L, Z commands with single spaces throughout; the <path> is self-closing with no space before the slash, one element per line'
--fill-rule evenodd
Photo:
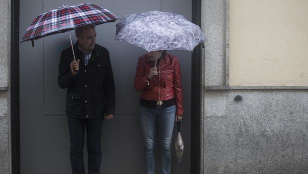
<path fill-rule="evenodd" d="M 148 52 L 193 49 L 205 40 L 200 27 L 183 15 L 148 11 L 124 16 L 116 24 L 115 40 L 137 45 Z"/>

